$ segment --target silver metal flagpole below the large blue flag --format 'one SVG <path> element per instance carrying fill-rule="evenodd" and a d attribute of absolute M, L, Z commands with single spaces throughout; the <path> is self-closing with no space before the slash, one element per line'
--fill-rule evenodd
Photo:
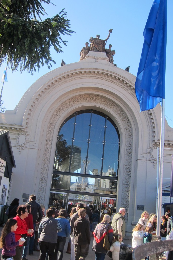
<path fill-rule="evenodd" d="M 161 208 L 162 208 L 163 149 L 164 149 L 164 126 L 165 126 L 164 114 L 165 114 L 165 99 L 162 98 L 161 130 L 160 130 L 160 164 L 159 164 L 158 201 L 157 201 L 157 229 L 156 229 L 157 236 L 160 236 L 160 222 L 161 222 Z"/>

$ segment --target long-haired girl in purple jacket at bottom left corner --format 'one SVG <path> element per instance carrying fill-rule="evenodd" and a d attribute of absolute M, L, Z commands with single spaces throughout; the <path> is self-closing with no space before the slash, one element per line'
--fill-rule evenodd
<path fill-rule="evenodd" d="M 17 220 L 10 218 L 7 220 L 0 237 L 0 248 L 2 248 L 1 259 L 12 260 L 12 257 L 16 255 L 16 246 L 22 245 L 25 241 L 19 239 L 15 242 L 15 233 L 17 229 Z"/>

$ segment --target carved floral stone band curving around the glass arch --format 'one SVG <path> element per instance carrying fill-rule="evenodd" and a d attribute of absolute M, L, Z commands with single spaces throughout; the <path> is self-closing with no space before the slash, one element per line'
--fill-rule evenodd
<path fill-rule="evenodd" d="M 50 161 L 50 153 L 51 153 L 51 146 L 52 146 L 52 137 L 54 127 L 56 122 L 60 118 L 60 116 L 69 108 L 76 106 L 77 104 L 83 103 L 93 103 L 93 104 L 101 104 L 104 107 L 108 108 L 109 110 L 113 111 L 113 114 L 116 114 L 117 118 L 121 121 L 122 125 L 124 126 L 125 131 L 125 147 L 124 147 L 124 165 L 123 168 L 123 177 L 122 177 L 122 187 L 119 188 L 119 192 L 122 191 L 122 200 L 121 200 L 121 207 L 126 208 L 126 212 L 128 212 L 129 207 L 129 191 L 130 191 L 130 177 L 131 177 L 131 164 L 132 164 L 132 128 L 129 122 L 129 119 L 122 110 L 114 101 L 98 95 L 80 95 L 72 97 L 66 100 L 61 106 L 57 107 L 54 113 L 52 114 L 48 126 L 47 126 L 47 133 L 45 139 L 45 146 L 44 146 L 44 153 L 42 159 L 42 167 L 41 167 L 41 175 L 40 175 L 40 182 L 39 182 L 39 191 L 38 191 L 38 202 L 43 202 L 45 198 L 45 191 L 46 191 L 46 183 L 47 183 L 47 175 L 48 175 L 48 168 L 49 168 L 49 161 Z M 128 215 L 125 215 L 126 219 L 128 219 Z"/>

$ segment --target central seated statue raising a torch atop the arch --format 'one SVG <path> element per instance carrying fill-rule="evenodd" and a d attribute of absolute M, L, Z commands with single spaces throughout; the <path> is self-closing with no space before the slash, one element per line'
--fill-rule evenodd
<path fill-rule="evenodd" d="M 105 52 L 106 41 L 109 39 L 110 32 L 106 40 L 101 40 L 100 35 L 96 35 L 96 38 L 90 37 L 90 51 Z"/>

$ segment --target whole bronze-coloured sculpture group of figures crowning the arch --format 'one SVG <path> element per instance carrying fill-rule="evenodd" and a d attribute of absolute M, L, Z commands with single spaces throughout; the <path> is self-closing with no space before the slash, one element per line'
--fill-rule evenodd
<path fill-rule="evenodd" d="M 109 30 L 109 34 L 105 40 L 100 39 L 100 35 L 96 35 L 96 38 L 90 37 L 90 46 L 88 46 L 88 42 L 85 43 L 85 47 L 82 48 L 80 55 L 80 61 L 84 60 L 86 57 L 86 54 L 89 53 L 89 51 L 98 51 L 98 52 L 105 52 L 107 57 L 109 58 L 109 62 L 113 64 L 113 55 L 115 55 L 115 50 L 111 50 L 112 45 L 109 44 L 109 49 L 106 49 L 106 43 L 109 39 L 110 33 L 112 33 L 112 30 Z M 116 66 L 116 65 L 115 65 Z"/>

